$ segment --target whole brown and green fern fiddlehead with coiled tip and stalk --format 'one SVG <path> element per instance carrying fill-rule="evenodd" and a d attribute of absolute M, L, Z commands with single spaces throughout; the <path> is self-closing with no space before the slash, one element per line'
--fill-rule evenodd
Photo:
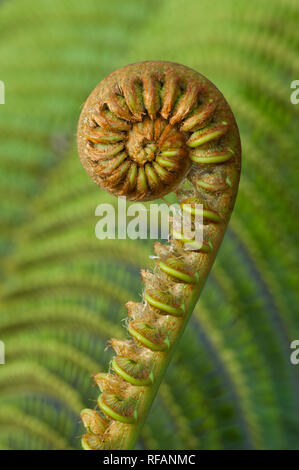
<path fill-rule="evenodd" d="M 148 61 L 100 82 L 83 107 L 77 137 L 84 168 L 104 190 L 138 201 L 175 191 L 191 218 L 203 205 L 202 244 L 174 226 L 167 244 L 155 244 L 155 271 L 141 271 L 143 301 L 126 304 L 131 339 L 111 340 L 111 371 L 94 376 L 99 411 L 81 413 L 84 449 L 130 449 L 222 241 L 240 176 L 239 133 L 205 77 Z"/>

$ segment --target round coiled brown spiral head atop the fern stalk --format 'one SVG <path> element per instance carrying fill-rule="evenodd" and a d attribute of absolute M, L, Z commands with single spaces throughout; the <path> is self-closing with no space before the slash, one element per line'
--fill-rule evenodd
<path fill-rule="evenodd" d="M 230 160 L 230 123 L 221 95 L 186 67 L 133 64 L 104 79 L 79 121 L 83 166 L 95 182 L 130 200 L 161 197 L 184 180 L 192 162 Z"/>

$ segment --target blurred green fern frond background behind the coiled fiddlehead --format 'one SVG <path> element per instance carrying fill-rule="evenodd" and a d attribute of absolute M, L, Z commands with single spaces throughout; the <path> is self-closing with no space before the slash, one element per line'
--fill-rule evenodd
<path fill-rule="evenodd" d="M 81 168 L 76 123 L 109 72 L 146 59 L 211 79 L 236 115 L 231 224 L 139 441 L 146 449 L 298 448 L 297 0 L 0 3 L 0 448 L 80 448 L 90 374 L 126 337 L 151 242 L 94 235 L 115 203 Z"/>

